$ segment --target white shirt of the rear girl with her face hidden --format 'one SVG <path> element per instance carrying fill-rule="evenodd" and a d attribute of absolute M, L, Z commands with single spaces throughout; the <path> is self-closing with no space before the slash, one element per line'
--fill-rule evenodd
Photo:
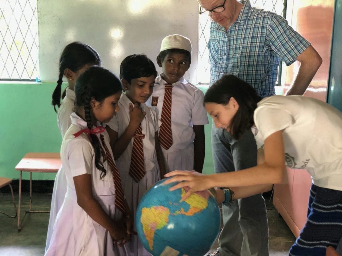
<path fill-rule="evenodd" d="M 65 91 L 65 97 L 62 100 L 57 113 L 57 124 L 61 131 L 62 138 L 71 125 L 70 115 L 74 112 L 75 98 L 75 91 L 67 88 Z"/>

